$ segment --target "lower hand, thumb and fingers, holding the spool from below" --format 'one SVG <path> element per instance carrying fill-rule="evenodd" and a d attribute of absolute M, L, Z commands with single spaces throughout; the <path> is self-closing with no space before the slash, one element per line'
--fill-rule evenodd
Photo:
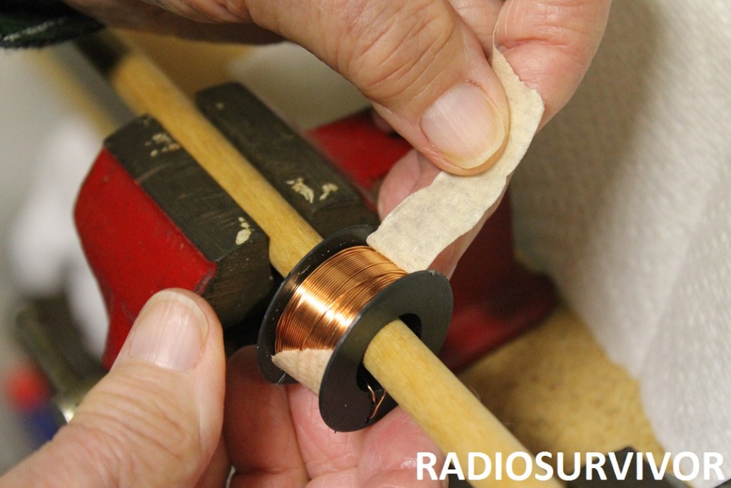
<path fill-rule="evenodd" d="M 260 378 L 252 349 L 232 359 L 224 420 L 224 361 L 211 307 L 190 292 L 157 294 L 73 420 L 0 487 L 221 487 L 229 457 L 234 487 L 409 486 L 416 452 L 436 452 L 398 410 L 333 433 L 313 394 Z"/>

